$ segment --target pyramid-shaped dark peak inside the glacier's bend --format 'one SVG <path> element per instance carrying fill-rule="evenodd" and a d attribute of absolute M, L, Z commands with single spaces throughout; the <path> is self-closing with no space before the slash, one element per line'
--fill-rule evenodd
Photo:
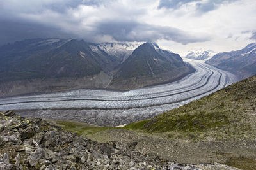
<path fill-rule="evenodd" d="M 180 55 L 161 50 L 155 43 L 144 43 L 120 65 L 109 87 L 129 90 L 173 81 L 193 71 Z"/>

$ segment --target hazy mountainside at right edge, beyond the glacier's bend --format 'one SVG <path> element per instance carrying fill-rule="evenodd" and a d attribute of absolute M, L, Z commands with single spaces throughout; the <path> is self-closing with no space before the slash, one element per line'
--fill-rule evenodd
<path fill-rule="evenodd" d="M 256 74 L 256 43 L 247 45 L 242 50 L 223 52 L 206 61 L 207 64 L 231 71 L 247 78 Z"/>

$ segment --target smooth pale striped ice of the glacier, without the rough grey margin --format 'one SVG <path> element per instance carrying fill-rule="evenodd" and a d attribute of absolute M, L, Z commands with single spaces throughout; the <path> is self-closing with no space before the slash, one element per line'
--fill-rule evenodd
<path fill-rule="evenodd" d="M 191 101 L 236 81 L 233 74 L 204 62 L 189 61 L 196 72 L 182 80 L 127 92 L 81 89 L 0 99 L 0 110 L 61 108 L 143 108 Z"/>

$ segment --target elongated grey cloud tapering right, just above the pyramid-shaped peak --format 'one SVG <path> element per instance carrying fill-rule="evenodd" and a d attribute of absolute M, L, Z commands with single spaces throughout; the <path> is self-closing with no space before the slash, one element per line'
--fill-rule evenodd
<path fill-rule="evenodd" d="M 96 34 L 109 35 L 117 41 L 157 41 L 172 40 L 184 45 L 211 39 L 207 36 L 195 36 L 173 27 L 160 27 L 133 21 L 108 21 L 97 25 Z"/>

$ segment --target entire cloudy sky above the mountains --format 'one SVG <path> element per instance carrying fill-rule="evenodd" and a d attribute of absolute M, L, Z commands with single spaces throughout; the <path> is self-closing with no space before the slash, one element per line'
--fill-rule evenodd
<path fill-rule="evenodd" d="M 0 45 L 51 37 L 227 52 L 256 41 L 256 1 L 0 0 Z"/>

